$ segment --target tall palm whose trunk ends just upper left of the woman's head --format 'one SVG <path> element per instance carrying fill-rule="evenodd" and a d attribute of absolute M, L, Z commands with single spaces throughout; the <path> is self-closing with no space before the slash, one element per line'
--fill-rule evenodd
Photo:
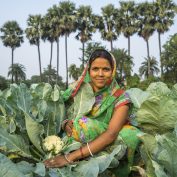
<path fill-rule="evenodd" d="M 94 16 L 90 6 L 80 6 L 76 14 L 77 30 L 76 39 L 82 43 L 82 65 L 84 66 L 85 43 L 92 37 L 94 28 Z"/>

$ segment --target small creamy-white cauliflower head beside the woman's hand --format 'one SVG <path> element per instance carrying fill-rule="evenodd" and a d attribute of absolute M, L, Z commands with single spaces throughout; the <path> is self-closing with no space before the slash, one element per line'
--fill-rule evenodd
<path fill-rule="evenodd" d="M 52 152 L 53 154 L 58 154 L 63 146 L 63 141 L 56 135 L 48 136 L 43 140 L 44 151 Z"/>

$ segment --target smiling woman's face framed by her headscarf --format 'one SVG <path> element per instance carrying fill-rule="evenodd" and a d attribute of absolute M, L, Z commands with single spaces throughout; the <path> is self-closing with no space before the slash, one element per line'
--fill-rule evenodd
<path fill-rule="evenodd" d="M 95 92 L 102 89 L 112 77 L 112 68 L 105 58 L 96 58 L 90 66 L 91 85 Z"/>

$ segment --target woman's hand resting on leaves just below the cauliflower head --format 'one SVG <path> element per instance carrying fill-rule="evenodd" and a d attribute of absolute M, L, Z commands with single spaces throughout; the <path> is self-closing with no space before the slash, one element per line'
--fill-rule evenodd
<path fill-rule="evenodd" d="M 68 162 L 63 155 L 58 155 L 54 158 L 45 160 L 44 164 L 47 168 L 59 168 L 67 165 Z"/>

